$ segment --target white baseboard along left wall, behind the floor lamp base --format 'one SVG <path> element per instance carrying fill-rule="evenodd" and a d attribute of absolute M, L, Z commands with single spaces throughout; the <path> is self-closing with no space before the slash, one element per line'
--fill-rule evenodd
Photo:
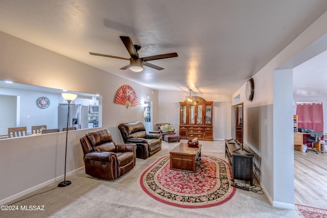
<path fill-rule="evenodd" d="M 82 166 L 80 168 L 77 168 L 74 171 L 71 171 L 69 173 L 66 173 L 66 177 L 75 174 L 77 171 L 79 171 L 80 169 L 83 169 L 83 168 L 84 168 L 84 166 Z M 39 188 L 42 188 L 44 186 L 50 185 L 50 184 L 52 184 L 54 182 L 57 182 L 57 181 L 63 180 L 63 179 L 64 179 L 64 175 L 61 175 L 61 176 L 58 176 L 58 177 L 53 178 L 51 180 L 45 181 L 45 182 L 43 182 L 41 184 L 35 185 L 35 186 L 31 187 L 31 188 L 28 188 L 28 189 L 26 189 L 24 191 L 20 191 L 19 193 L 16 193 L 15 195 L 12 195 L 12 196 L 10 196 L 8 198 L 5 198 L 3 200 L 0 200 L 0 205 L 4 205 L 4 204 L 6 204 L 8 202 L 11 202 L 11 201 L 17 199 L 17 198 L 20 198 L 22 196 L 25 196 L 28 193 L 31 193 L 32 191 L 35 191 L 35 190 L 37 190 Z"/>

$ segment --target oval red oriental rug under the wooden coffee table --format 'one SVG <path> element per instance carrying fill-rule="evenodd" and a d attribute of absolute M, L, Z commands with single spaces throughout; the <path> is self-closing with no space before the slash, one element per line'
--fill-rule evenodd
<path fill-rule="evenodd" d="M 152 198 L 184 208 L 212 207 L 228 201 L 235 193 L 229 164 L 202 155 L 196 172 L 170 169 L 170 157 L 164 156 L 141 176 L 143 190 Z"/>

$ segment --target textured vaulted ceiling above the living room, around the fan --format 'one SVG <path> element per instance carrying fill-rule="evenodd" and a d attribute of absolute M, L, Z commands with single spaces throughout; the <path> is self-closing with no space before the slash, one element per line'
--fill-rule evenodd
<path fill-rule="evenodd" d="M 232 94 L 327 10 L 325 0 L 0 1 L 0 31 L 157 90 Z M 164 67 L 120 70 L 140 57 Z M 1 78 L 0 78 L 1 79 Z"/>

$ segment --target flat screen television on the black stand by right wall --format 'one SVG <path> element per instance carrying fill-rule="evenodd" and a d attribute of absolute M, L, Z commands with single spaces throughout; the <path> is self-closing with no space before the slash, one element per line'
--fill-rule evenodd
<path fill-rule="evenodd" d="M 231 106 L 231 138 L 239 145 L 239 149 L 233 151 L 244 150 L 243 146 L 243 102 Z M 248 151 L 246 151 L 248 152 Z"/>

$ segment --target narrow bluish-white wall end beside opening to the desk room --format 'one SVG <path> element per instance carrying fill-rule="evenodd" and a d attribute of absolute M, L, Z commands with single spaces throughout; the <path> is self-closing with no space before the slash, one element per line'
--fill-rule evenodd
<path fill-rule="evenodd" d="M 294 158 L 291 158 L 294 157 L 293 70 L 275 70 L 273 75 L 274 202 L 276 205 L 287 207 L 294 203 Z M 281 120 L 283 122 L 279 122 Z M 287 166 L 286 169 L 284 169 L 285 166 Z M 288 195 L 281 195 L 281 193 Z"/>

